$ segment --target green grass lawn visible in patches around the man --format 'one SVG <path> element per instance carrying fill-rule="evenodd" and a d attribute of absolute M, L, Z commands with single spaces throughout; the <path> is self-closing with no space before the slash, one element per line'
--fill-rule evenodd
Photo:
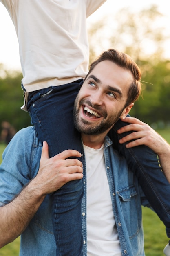
<path fill-rule="evenodd" d="M 170 143 L 170 130 L 158 131 Z M 5 146 L 0 144 L 0 157 Z M 0 158 L 1 162 L 1 158 Z M 158 216 L 147 207 L 142 207 L 146 256 L 164 256 L 163 248 L 168 243 L 165 226 Z M 20 238 L 0 249 L 0 256 L 18 256 Z"/>

